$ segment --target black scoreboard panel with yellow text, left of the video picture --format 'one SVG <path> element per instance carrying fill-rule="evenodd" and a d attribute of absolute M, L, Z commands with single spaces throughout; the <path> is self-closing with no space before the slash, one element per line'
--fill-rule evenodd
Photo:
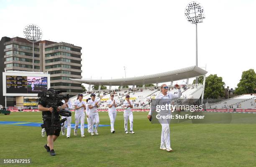
<path fill-rule="evenodd" d="M 28 93 L 26 76 L 6 76 L 6 93 Z"/>

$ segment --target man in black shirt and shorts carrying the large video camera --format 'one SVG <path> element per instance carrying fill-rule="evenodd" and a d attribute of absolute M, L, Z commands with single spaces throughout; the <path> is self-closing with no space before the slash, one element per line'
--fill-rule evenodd
<path fill-rule="evenodd" d="M 54 111 L 54 109 L 52 107 L 46 107 L 47 103 L 46 101 L 44 101 L 43 99 L 40 99 L 38 101 L 38 110 L 42 111 L 42 116 L 43 116 L 43 120 L 44 120 L 44 125 L 46 125 L 47 127 L 51 126 L 51 112 Z M 61 109 L 65 109 L 66 105 L 59 101 L 57 106 L 61 106 L 57 108 L 57 111 L 59 112 Z M 56 115 L 56 118 L 58 118 L 58 120 L 54 120 L 54 121 L 59 121 L 59 114 Z M 50 152 L 50 155 L 55 155 L 54 152 L 54 141 L 58 138 L 60 130 L 50 130 L 48 128 L 45 128 L 46 130 L 46 135 L 47 135 L 47 144 L 44 146 L 44 148 L 46 149 L 47 152 Z"/>

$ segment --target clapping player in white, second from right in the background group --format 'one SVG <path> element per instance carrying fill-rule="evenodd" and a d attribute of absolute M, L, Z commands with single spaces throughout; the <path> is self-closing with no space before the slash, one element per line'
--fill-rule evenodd
<path fill-rule="evenodd" d="M 115 133 L 114 124 L 116 117 L 116 100 L 114 100 L 114 94 L 110 94 L 110 99 L 107 101 L 108 103 L 108 116 L 110 118 L 110 132 Z"/>

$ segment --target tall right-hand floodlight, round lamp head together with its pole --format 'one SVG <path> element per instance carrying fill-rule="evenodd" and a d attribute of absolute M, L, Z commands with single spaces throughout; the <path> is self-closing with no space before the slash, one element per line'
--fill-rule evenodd
<path fill-rule="evenodd" d="M 197 64 L 197 23 L 203 22 L 205 18 L 205 10 L 199 2 L 190 2 L 185 9 L 185 16 L 188 22 L 196 25 L 196 66 Z M 198 83 L 198 77 L 196 77 L 196 84 Z"/>

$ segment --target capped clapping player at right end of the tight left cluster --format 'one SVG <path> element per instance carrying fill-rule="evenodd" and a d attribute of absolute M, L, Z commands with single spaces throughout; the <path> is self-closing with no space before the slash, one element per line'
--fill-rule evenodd
<path fill-rule="evenodd" d="M 100 123 L 100 117 L 97 108 L 100 107 L 98 105 L 99 101 L 95 100 L 96 95 L 94 93 L 91 94 L 91 100 L 88 101 L 88 108 L 89 108 L 89 118 L 90 118 L 90 132 L 91 135 L 99 135 L 97 129 Z M 93 120 L 95 119 L 95 129 L 93 130 Z"/>

